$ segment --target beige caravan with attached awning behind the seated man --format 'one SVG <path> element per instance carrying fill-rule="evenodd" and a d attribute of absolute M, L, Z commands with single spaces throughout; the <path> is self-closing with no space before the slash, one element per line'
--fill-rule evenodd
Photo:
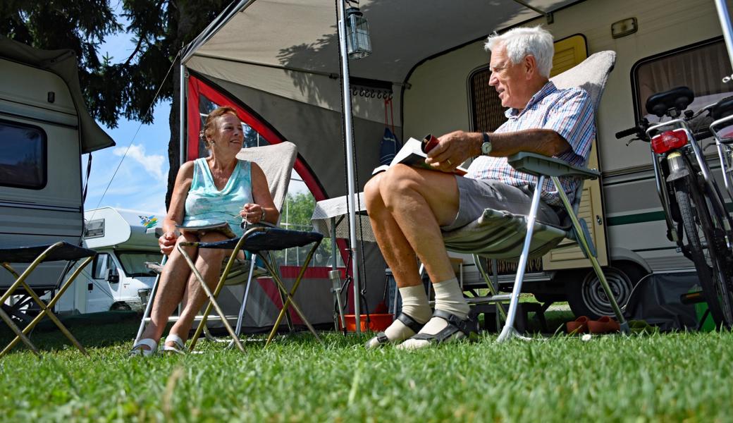
<path fill-rule="evenodd" d="M 356 191 L 379 163 L 385 126 L 400 139 L 497 128 L 504 109 L 487 84 L 486 36 L 542 25 L 556 40 L 553 75 L 597 51 L 617 54 L 589 162 L 603 177 L 586 184 L 581 216 L 619 303 L 647 273 L 692 269 L 666 238 L 649 145 L 627 144 L 614 133 L 644 117 L 644 102 L 655 92 L 686 85 L 697 96 L 693 108 L 733 93 L 733 85 L 723 82 L 732 69 L 716 3 L 731 5 L 713 0 L 362 0 L 358 7 L 369 21 L 371 54 L 348 63 L 353 119 L 345 121 L 355 139 L 348 147 L 355 158 L 349 166 L 356 165 Z M 298 144 L 295 169 L 317 200 L 347 194 L 349 166 L 343 158 L 350 153 L 342 137 L 339 83 L 345 68 L 338 46 L 333 1 L 232 3 L 184 52 L 182 101 L 188 111 L 182 121 L 195 117 L 182 126 L 188 159 L 202 151 L 199 111 L 231 103 L 265 141 Z M 339 237 L 348 233 L 339 231 Z M 359 253 L 373 305 L 383 293 L 384 265 L 374 246 Z M 464 268 L 468 282 L 478 279 L 471 262 Z M 577 249 L 553 251 L 532 262 L 530 271 L 524 287 L 540 301 L 567 300 L 578 315 L 611 312 L 589 261 Z M 515 268 L 503 263 L 500 273 L 502 282 L 510 282 Z"/>

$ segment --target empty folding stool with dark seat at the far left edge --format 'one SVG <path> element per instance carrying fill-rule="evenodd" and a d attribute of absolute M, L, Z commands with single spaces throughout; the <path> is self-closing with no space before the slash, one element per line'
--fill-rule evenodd
<path fill-rule="evenodd" d="M 23 341 L 23 343 L 26 344 L 26 346 L 29 347 L 29 349 L 36 354 L 39 355 L 38 349 L 33 345 L 33 343 L 28 339 L 28 334 L 32 329 L 35 327 L 35 325 L 40 322 L 41 319 L 43 319 L 44 316 L 48 315 L 48 318 L 53 321 L 56 326 L 59 328 L 60 331 L 71 341 L 75 347 L 78 348 L 79 351 L 81 351 L 82 354 L 85 356 L 89 356 L 88 353 L 86 353 L 86 350 L 84 350 L 84 347 L 81 346 L 81 344 L 74 338 L 74 336 L 71 334 L 71 332 L 66 328 L 61 321 L 59 321 L 58 317 L 54 315 L 54 312 L 51 310 L 54 309 L 54 305 L 56 305 L 56 302 L 59 301 L 59 299 L 64 295 L 67 288 L 71 286 L 71 284 L 74 282 L 74 279 L 76 279 L 76 276 L 81 273 L 81 271 L 86 267 L 86 265 L 91 262 L 95 255 L 97 254 L 96 251 L 90 250 L 90 249 L 84 249 L 78 246 L 74 246 L 70 243 L 60 241 L 57 243 L 54 243 L 51 246 L 45 245 L 45 246 L 32 246 L 32 247 L 18 247 L 18 248 L 11 248 L 11 249 L 0 249 L 0 264 L 2 265 L 5 270 L 10 272 L 12 276 L 15 277 L 15 282 L 13 282 L 10 285 L 10 288 L 0 297 L 0 318 L 4 320 L 4 322 L 10 326 L 10 329 L 15 333 L 15 339 L 12 339 L 12 341 L 2 350 L 0 351 L 0 357 L 7 354 L 12 347 L 15 347 L 15 345 L 18 344 L 18 342 Z M 29 287 L 29 285 L 26 283 L 26 279 L 33 273 L 33 271 L 40 265 L 41 262 L 54 262 L 54 261 L 77 261 L 85 259 L 83 262 L 81 262 L 81 265 L 76 268 L 76 270 L 71 274 L 69 279 L 64 282 L 61 287 L 59 288 L 56 295 L 51 298 L 51 301 L 48 301 L 48 304 L 46 304 L 43 300 L 41 300 L 38 295 L 34 292 L 34 290 Z M 15 271 L 14 268 L 10 265 L 10 263 L 30 263 L 28 268 L 26 268 L 25 271 L 23 271 L 22 274 L 18 274 L 17 271 Z M 35 301 L 36 304 L 41 309 L 41 312 L 39 315 L 34 317 L 33 320 L 31 320 L 28 325 L 26 325 L 25 328 L 23 328 L 23 331 L 21 331 L 20 328 L 18 328 L 17 325 L 12 321 L 10 316 L 7 315 L 7 313 L 2 309 L 1 305 L 5 304 L 5 302 L 10 298 L 10 296 L 17 290 L 19 287 L 22 287 L 23 290 Z"/>

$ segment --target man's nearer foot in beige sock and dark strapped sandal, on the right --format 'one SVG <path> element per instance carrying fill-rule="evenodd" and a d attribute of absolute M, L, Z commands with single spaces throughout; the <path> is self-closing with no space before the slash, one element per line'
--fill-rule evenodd
<path fill-rule="evenodd" d="M 476 321 L 468 318 L 461 319 L 449 312 L 435 309 L 432 319 L 423 326 L 419 333 L 397 345 L 397 348 L 416 350 L 443 342 L 453 342 L 457 339 L 475 340 L 478 334 L 479 325 Z"/>

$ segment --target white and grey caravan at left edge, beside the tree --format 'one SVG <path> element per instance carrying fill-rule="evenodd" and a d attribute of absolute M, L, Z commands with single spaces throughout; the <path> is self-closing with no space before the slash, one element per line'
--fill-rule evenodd
<path fill-rule="evenodd" d="M 81 243 L 81 155 L 114 145 L 89 116 L 73 51 L 43 51 L 0 36 L 0 247 Z M 11 263 L 23 271 L 26 265 Z M 64 262 L 44 263 L 26 281 L 54 290 Z M 0 292 L 15 280 L 0 272 Z M 3 304 L 19 316 L 28 295 Z"/>

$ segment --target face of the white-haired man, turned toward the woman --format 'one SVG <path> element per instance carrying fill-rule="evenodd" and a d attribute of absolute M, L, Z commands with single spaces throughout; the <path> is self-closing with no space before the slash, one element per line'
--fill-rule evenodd
<path fill-rule="evenodd" d="M 501 106 L 520 110 L 527 106 L 534 92 L 528 92 L 529 75 L 525 61 L 512 64 L 507 56 L 507 48 L 498 45 L 491 51 L 489 66 L 489 85 L 498 92 Z"/>

